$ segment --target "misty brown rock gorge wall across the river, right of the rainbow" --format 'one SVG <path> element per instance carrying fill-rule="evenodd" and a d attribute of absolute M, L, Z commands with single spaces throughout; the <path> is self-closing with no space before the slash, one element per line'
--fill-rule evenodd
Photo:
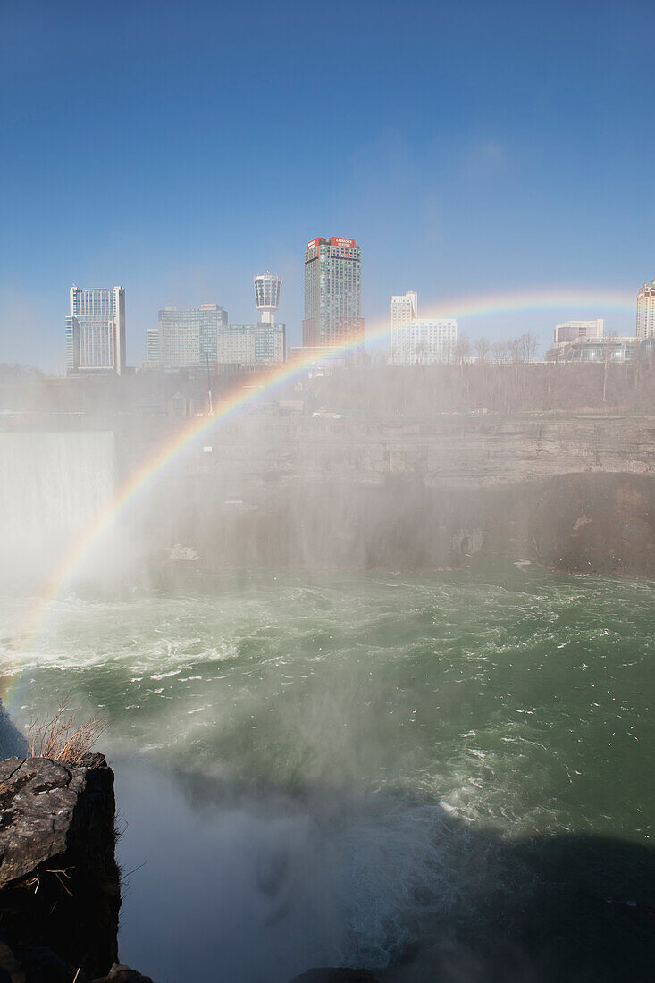
<path fill-rule="evenodd" d="M 171 421 L 119 436 L 125 474 Z M 158 432 L 158 433 L 157 433 Z M 141 503 L 149 549 L 208 567 L 466 565 L 655 575 L 655 419 L 259 413 L 210 425 Z"/>

